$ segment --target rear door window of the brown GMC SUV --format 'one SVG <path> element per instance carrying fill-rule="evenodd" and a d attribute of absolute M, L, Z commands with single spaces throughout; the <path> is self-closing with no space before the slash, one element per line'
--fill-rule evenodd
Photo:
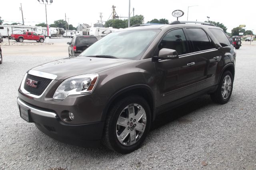
<path fill-rule="evenodd" d="M 204 51 L 214 49 L 214 45 L 209 41 L 207 34 L 200 28 L 187 28 L 188 37 L 194 45 L 194 51 Z"/>

